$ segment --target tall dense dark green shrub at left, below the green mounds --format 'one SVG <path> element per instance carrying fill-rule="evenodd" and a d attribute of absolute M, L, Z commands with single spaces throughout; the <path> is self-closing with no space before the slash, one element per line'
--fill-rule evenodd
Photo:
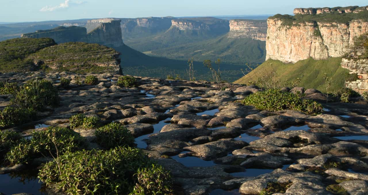
<path fill-rule="evenodd" d="M 60 98 L 56 87 L 50 80 L 29 80 L 11 100 L 12 104 L 23 108 L 42 111 L 45 106 L 59 105 Z"/>

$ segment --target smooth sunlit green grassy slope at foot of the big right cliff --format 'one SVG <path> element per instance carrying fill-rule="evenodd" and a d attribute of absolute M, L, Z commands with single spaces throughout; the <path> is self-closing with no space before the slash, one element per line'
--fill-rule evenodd
<path fill-rule="evenodd" d="M 248 82 L 256 80 L 255 74 L 259 75 L 262 74 L 262 72 L 272 72 L 273 69 L 270 64 L 272 64 L 273 69 L 277 72 L 281 80 L 292 81 L 296 78 L 300 78 L 301 82 L 298 86 L 306 89 L 314 88 L 321 91 L 326 91 L 325 80 L 323 79 L 324 73 L 332 77 L 330 91 L 335 91 L 344 87 L 345 78 L 349 73 L 347 69 L 341 67 L 341 58 L 329 58 L 326 60 L 314 60 L 309 58 L 295 64 L 285 64 L 277 60 L 269 59 L 254 69 L 254 72 L 248 73 L 234 83 L 248 84 Z"/>

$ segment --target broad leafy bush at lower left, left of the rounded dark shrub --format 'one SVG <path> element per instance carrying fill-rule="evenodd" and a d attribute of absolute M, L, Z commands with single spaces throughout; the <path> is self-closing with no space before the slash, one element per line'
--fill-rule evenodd
<path fill-rule="evenodd" d="M 22 140 L 6 154 L 10 165 L 28 163 L 41 156 L 56 157 L 64 152 L 74 152 L 84 147 L 84 138 L 77 132 L 63 127 L 48 127 L 32 133 L 30 140 Z"/>

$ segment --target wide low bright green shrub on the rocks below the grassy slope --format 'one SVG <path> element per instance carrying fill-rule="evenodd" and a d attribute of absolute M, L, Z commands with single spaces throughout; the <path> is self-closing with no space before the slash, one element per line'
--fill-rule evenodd
<path fill-rule="evenodd" d="M 268 111 L 296 110 L 309 115 L 321 113 L 321 104 L 312 100 L 302 100 L 298 95 L 276 89 L 259 91 L 244 98 L 244 105 Z"/>

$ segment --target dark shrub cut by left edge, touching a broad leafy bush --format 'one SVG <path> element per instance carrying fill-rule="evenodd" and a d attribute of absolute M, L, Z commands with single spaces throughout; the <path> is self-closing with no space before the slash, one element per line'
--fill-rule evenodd
<path fill-rule="evenodd" d="M 0 131 L 0 161 L 3 161 L 4 155 L 17 145 L 22 139 L 22 136 L 14 131 Z"/>

